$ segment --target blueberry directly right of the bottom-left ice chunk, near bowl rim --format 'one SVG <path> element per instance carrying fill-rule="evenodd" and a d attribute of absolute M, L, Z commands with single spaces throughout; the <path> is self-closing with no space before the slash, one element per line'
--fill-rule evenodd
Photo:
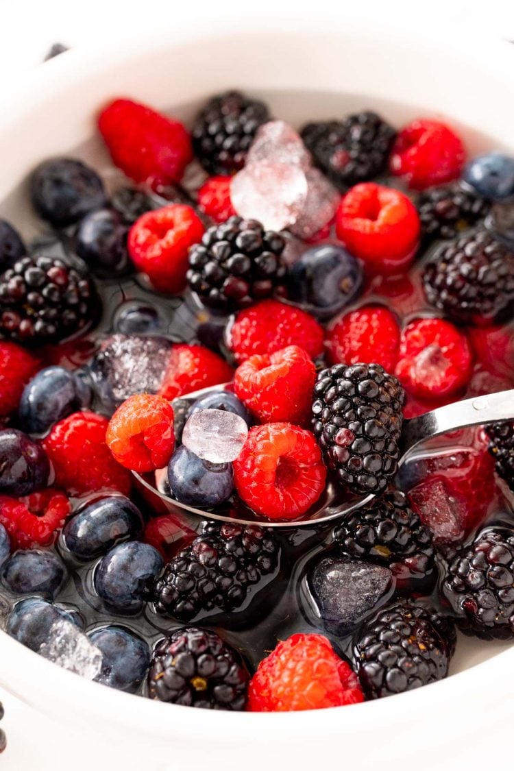
<path fill-rule="evenodd" d="M 102 670 L 95 679 L 110 688 L 135 693 L 149 667 L 146 642 L 117 626 L 95 629 L 88 636 L 103 655 Z"/>

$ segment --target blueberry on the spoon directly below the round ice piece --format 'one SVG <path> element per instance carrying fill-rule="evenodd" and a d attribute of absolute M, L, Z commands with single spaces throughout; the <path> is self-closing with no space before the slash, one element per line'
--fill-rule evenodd
<path fill-rule="evenodd" d="M 201 460 L 182 445 L 170 460 L 168 480 L 176 500 L 189 506 L 218 506 L 232 494 L 232 464 Z"/>

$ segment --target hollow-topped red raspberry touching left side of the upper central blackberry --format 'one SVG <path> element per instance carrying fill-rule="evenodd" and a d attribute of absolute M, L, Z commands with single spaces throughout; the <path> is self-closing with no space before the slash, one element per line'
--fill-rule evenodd
<path fill-rule="evenodd" d="M 158 291 L 179 295 L 186 287 L 189 249 L 204 231 L 190 206 L 170 204 L 139 217 L 129 230 L 127 248 L 136 268 Z"/>

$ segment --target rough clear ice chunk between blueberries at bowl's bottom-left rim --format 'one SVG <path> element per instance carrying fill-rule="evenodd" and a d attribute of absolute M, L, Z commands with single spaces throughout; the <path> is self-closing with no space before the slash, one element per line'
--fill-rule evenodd
<path fill-rule="evenodd" d="M 88 680 L 96 678 L 102 669 L 102 651 L 65 618 L 52 624 L 49 638 L 39 647 L 38 653 Z"/>

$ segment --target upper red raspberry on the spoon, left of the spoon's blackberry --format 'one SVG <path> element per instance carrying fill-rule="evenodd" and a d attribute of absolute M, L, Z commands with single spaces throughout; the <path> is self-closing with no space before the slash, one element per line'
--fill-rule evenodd
<path fill-rule="evenodd" d="M 305 423 L 311 412 L 316 368 L 303 348 L 288 345 L 271 355 L 250 356 L 233 389 L 260 423 Z"/>

